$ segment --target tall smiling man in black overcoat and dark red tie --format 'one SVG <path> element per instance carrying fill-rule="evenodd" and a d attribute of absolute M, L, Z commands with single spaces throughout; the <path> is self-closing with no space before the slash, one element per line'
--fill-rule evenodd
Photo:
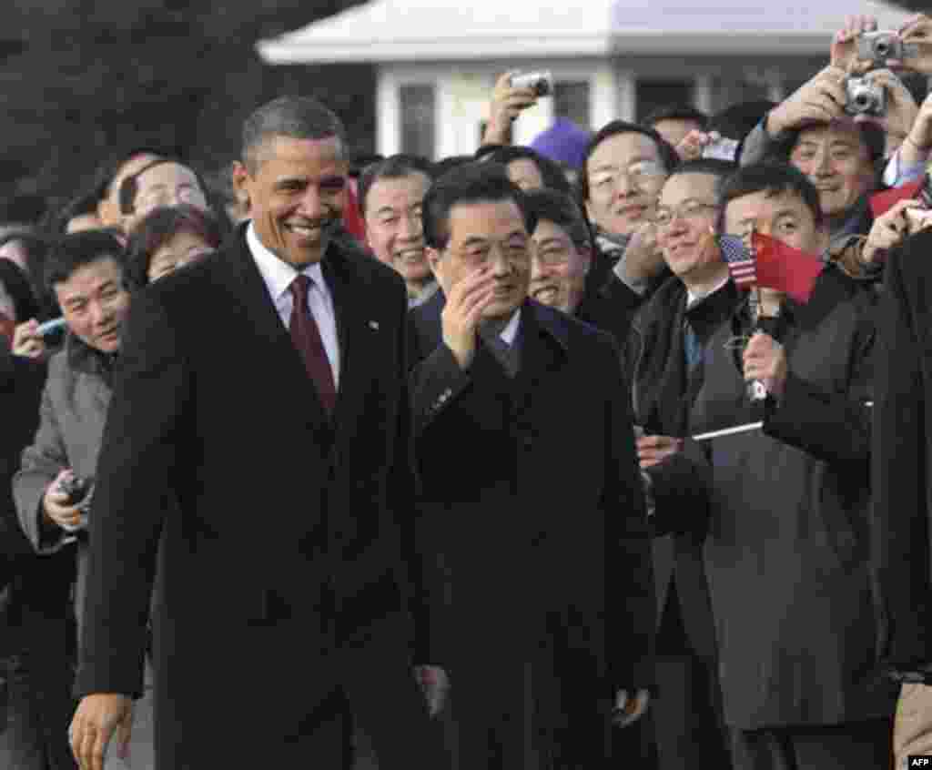
<path fill-rule="evenodd" d="M 91 516 L 82 768 L 130 731 L 157 556 L 159 770 L 341 767 L 348 703 L 383 767 L 442 766 L 410 670 L 404 283 L 338 234 L 345 147 L 313 100 L 260 107 L 235 172 L 252 224 L 134 300 Z"/>

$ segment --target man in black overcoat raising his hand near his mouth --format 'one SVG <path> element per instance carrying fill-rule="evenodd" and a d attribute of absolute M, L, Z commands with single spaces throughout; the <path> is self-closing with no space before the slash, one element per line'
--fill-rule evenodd
<path fill-rule="evenodd" d="M 651 563 L 618 352 L 527 299 L 520 190 L 465 166 L 424 200 L 445 302 L 413 310 L 431 646 L 459 767 L 601 766 L 651 680 Z"/>

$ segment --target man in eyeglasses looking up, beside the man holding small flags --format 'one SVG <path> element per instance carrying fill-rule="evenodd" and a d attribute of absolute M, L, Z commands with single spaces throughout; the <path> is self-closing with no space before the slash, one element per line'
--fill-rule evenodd
<path fill-rule="evenodd" d="M 655 502 L 657 690 L 651 720 L 661 770 L 691 760 L 731 766 L 721 719 L 717 645 L 702 557 L 707 491 L 702 451 L 690 435 L 692 398 L 703 382 L 706 341 L 739 301 L 713 238 L 721 160 L 679 167 L 651 214 L 672 275 L 642 306 L 625 358 L 630 367 L 641 469 Z"/>

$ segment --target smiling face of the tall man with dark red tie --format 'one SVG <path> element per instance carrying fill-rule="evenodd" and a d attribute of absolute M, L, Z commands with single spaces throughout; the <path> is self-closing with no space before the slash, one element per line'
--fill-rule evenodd
<path fill-rule="evenodd" d="M 254 173 L 237 163 L 234 182 L 249 197 L 255 233 L 284 262 L 320 262 L 339 225 L 348 166 L 336 136 L 276 136 L 257 148 Z"/>

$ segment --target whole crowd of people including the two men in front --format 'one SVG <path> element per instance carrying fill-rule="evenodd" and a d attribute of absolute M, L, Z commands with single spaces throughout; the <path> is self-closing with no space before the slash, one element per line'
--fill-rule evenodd
<path fill-rule="evenodd" d="M 0 238 L 4 767 L 932 757 L 932 18 L 532 146 L 513 76 L 474 156 L 285 96 Z"/>

